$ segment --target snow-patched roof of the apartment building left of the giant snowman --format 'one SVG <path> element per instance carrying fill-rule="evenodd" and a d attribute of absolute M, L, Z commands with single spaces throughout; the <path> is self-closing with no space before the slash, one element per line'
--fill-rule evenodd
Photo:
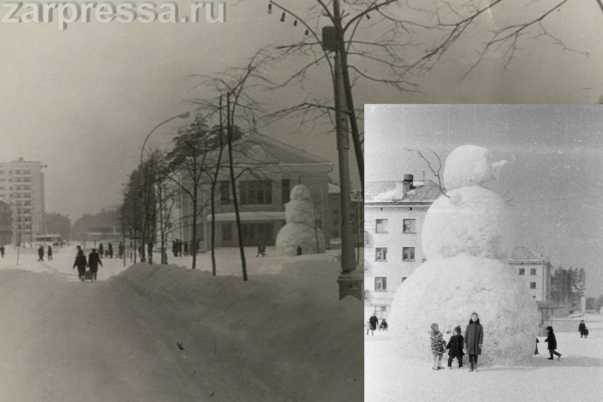
<path fill-rule="evenodd" d="M 401 183 L 401 180 L 398 181 Z M 364 203 L 433 203 L 442 192 L 431 180 L 414 181 L 412 190 L 403 199 L 396 198 L 396 181 L 370 181 L 364 184 Z M 446 189 L 444 189 L 446 191 Z"/>

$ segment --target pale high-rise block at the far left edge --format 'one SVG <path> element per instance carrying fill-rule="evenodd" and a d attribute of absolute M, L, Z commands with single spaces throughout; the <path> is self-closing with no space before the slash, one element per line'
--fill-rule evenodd
<path fill-rule="evenodd" d="M 0 199 L 12 210 L 14 242 L 33 242 L 44 233 L 43 167 L 23 158 L 0 162 Z"/>

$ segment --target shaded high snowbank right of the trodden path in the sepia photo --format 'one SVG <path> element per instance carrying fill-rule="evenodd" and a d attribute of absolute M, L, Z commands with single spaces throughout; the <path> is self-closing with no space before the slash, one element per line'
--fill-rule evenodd
<path fill-rule="evenodd" d="M 197 345 L 233 375 L 253 375 L 254 386 L 273 389 L 279 400 L 361 400 L 362 302 L 338 300 L 337 262 L 305 257 L 247 282 L 137 264 L 109 284 L 138 295 L 141 301 L 128 300 L 133 309 L 152 301 L 154 312 L 139 313 L 157 315 L 185 347 Z"/>

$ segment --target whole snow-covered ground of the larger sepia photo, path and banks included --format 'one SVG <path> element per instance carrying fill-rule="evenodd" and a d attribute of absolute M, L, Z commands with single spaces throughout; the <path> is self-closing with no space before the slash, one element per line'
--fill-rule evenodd
<path fill-rule="evenodd" d="M 104 259 L 80 283 L 75 248 L 0 260 L 0 401 L 359 401 L 362 302 L 337 300 L 335 253 L 198 270 Z M 177 263 L 190 257 L 171 258 Z M 279 273 L 279 274 L 277 274 Z M 183 350 L 178 348 L 181 342 Z"/>

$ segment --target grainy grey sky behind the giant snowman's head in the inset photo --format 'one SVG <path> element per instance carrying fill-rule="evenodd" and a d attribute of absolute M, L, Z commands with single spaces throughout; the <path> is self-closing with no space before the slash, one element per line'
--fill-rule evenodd
<path fill-rule="evenodd" d="M 515 245 L 584 268 L 587 295 L 603 294 L 603 105 L 367 105 L 365 130 L 367 181 L 423 171 L 435 180 L 403 148 L 432 149 L 444 163 L 473 144 L 511 162 L 502 189 L 513 199 Z"/>

